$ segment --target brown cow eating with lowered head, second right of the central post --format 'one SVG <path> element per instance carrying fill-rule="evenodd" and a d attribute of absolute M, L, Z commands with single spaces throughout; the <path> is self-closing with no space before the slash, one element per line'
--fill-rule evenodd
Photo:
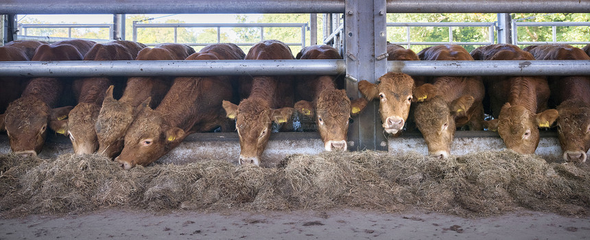
<path fill-rule="evenodd" d="M 418 53 L 421 60 L 473 60 L 459 45 L 437 45 Z M 456 127 L 469 125 L 471 130 L 483 130 L 484 83 L 481 77 L 434 77 L 433 98 L 416 106 L 414 120 L 422 132 L 428 152 L 438 158 L 451 154 Z"/>

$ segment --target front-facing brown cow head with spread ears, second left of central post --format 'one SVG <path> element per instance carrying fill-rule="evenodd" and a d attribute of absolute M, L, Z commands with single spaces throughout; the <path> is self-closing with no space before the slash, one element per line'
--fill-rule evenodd
<path fill-rule="evenodd" d="M 266 101 L 244 99 L 239 105 L 223 101 L 223 108 L 229 119 L 235 119 L 239 136 L 239 164 L 260 164 L 260 156 L 268 139 L 272 122 L 285 123 L 290 119 L 293 108 L 272 109 Z"/>

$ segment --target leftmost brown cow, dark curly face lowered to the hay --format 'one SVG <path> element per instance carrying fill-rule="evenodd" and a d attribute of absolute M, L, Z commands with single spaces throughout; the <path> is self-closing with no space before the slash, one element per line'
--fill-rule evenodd
<path fill-rule="evenodd" d="M 88 40 L 63 40 L 37 48 L 33 61 L 82 60 L 95 43 Z M 38 154 L 45 143 L 47 124 L 67 117 L 71 106 L 55 108 L 67 82 L 57 77 L 35 77 L 29 80 L 23 95 L 5 112 L 5 129 L 12 152 Z"/>

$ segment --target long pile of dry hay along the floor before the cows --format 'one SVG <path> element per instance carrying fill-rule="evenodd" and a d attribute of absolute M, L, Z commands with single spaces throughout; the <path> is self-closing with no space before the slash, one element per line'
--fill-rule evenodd
<path fill-rule="evenodd" d="M 384 152 L 293 155 L 279 167 L 219 160 L 123 171 L 100 156 L 57 159 L 0 155 L 0 211 L 83 213 L 109 206 L 263 211 L 423 208 L 463 217 L 517 208 L 587 215 L 590 171 L 509 150 L 447 160 Z"/>

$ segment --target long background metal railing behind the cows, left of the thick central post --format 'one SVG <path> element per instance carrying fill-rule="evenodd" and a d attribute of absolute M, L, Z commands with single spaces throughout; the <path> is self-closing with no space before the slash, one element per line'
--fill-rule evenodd
<path fill-rule="evenodd" d="M 307 23 L 136 23 L 133 22 L 133 41 L 137 42 L 138 28 L 172 27 L 174 29 L 174 43 L 178 43 L 178 28 L 199 27 L 217 29 L 217 43 L 221 42 L 221 28 L 226 27 L 257 27 L 260 29 L 260 39 L 264 40 L 264 28 L 266 27 L 298 27 L 301 29 L 300 43 L 285 43 L 287 45 L 300 45 L 305 47 L 305 31 Z M 154 46 L 156 43 L 143 43 L 147 46 Z M 191 46 L 207 46 L 212 43 L 185 43 Z M 252 46 L 256 43 L 235 43 L 238 46 Z"/>

